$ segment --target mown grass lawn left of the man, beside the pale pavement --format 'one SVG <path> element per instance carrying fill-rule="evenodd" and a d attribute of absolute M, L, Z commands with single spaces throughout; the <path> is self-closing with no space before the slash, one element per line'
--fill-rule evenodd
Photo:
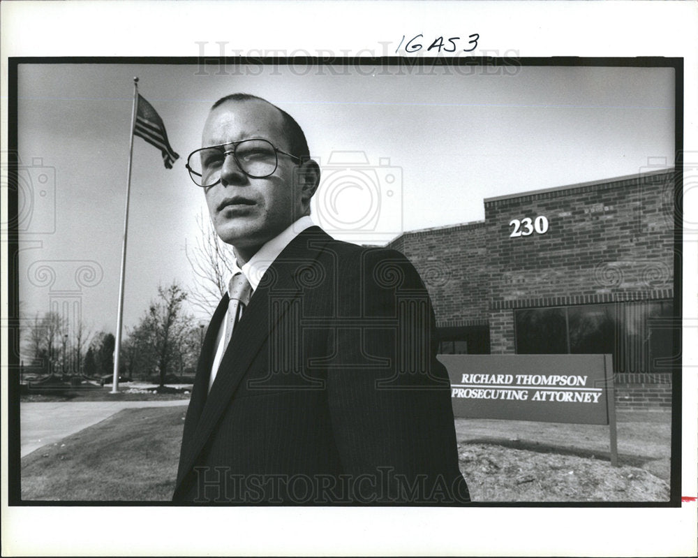
<path fill-rule="evenodd" d="M 172 498 L 186 406 L 124 409 L 22 458 L 23 500 Z"/>

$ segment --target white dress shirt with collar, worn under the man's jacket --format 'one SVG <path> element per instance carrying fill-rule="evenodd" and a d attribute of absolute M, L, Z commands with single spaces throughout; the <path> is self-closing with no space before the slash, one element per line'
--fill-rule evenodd
<path fill-rule="evenodd" d="M 292 223 L 288 228 L 283 230 L 279 235 L 269 240 L 264 246 L 262 246 L 257 253 L 250 258 L 250 260 L 241 267 L 237 267 L 233 270 L 233 275 L 242 272 L 247 277 L 252 287 L 252 296 L 254 296 L 257 287 L 264 277 L 264 274 L 269 269 L 269 266 L 274 263 L 279 254 L 283 251 L 285 247 L 290 244 L 290 242 L 302 233 L 306 228 L 315 226 L 313 220 L 310 216 L 302 216 L 300 219 Z M 251 300 L 251 299 L 250 299 Z M 240 314 L 242 317 L 242 312 Z M 211 365 L 211 374 L 209 375 L 209 391 L 211 386 L 213 386 L 214 379 L 216 379 L 216 372 L 218 372 L 218 367 L 221 365 L 221 360 L 223 360 L 223 354 L 225 353 L 225 328 L 227 327 L 228 320 L 223 319 L 223 323 L 218 328 L 218 335 L 216 336 L 216 355 L 214 356 L 213 365 Z"/>

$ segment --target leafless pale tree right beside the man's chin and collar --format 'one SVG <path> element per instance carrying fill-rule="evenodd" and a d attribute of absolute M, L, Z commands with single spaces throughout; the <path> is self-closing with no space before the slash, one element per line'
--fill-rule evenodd
<path fill-rule="evenodd" d="M 211 219 L 199 214 L 196 224 L 200 233 L 196 243 L 193 247 L 184 247 L 196 284 L 188 300 L 193 306 L 210 313 L 228 288 L 235 268 L 235 256 L 231 247 L 216 234 Z"/>

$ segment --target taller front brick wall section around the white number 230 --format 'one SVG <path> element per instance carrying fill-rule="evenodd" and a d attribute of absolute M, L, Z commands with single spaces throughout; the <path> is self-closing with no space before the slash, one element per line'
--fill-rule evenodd
<path fill-rule="evenodd" d="M 485 202 L 492 302 L 671 288 L 673 183 L 666 173 Z M 549 230 L 510 238 L 512 219 Z"/>

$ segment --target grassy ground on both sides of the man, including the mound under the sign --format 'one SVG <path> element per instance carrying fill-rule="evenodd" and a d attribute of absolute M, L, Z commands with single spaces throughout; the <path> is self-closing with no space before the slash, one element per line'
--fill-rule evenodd
<path fill-rule="evenodd" d="M 22 458 L 22 499 L 168 501 L 186 406 L 126 409 Z M 608 427 L 457 419 L 461 471 L 476 501 L 666 501 L 669 412 L 618 413 Z"/>

